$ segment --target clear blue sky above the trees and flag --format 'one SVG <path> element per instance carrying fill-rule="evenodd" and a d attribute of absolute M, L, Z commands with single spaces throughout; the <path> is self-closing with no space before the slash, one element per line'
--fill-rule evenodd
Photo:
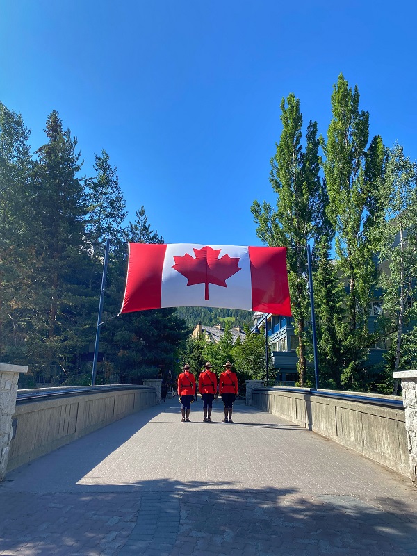
<path fill-rule="evenodd" d="M 370 132 L 417 158 L 414 1 L 0 0 L 0 100 L 33 150 L 56 109 L 91 174 L 105 149 L 165 242 L 261 245 L 254 199 L 282 97 L 325 134 L 343 72 Z"/>

